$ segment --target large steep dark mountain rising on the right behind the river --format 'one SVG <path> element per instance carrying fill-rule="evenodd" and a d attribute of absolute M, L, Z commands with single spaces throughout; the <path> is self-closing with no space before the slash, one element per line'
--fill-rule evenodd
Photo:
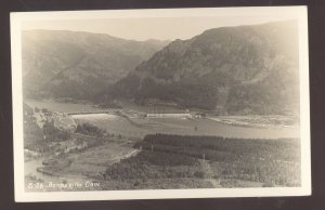
<path fill-rule="evenodd" d="M 221 27 L 176 40 L 115 83 L 106 100 L 223 114 L 298 111 L 295 21 Z"/>

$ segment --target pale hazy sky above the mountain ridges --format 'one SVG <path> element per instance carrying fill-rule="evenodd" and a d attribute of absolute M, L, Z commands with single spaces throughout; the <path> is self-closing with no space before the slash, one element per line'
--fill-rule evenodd
<path fill-rule="evenodd" d="M 74 21 L 28 21 L 23 29 L 74 30 L 107 34 L 133 40 L 190 39 L 209 28 L 252 25 L 289 19 L 285 16 L 198 16 L 198 17 L 147 17 Z"/>

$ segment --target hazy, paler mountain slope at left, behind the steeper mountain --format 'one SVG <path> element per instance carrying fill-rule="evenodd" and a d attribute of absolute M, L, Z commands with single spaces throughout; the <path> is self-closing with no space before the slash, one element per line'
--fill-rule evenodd
<path fill-rule="evenodd" d="M 24 95 L 92 100 L 167 43 L 104 34 L 25 30 L 22 35 Z"/>

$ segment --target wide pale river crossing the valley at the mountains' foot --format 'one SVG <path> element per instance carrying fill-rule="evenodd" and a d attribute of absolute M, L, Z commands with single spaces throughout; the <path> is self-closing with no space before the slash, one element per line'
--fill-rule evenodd
<path fill-rule="evenodd" d="M 31 107 L 48 108 L 52 111 L 90 111 L 99 110 L 90 104 L 62 103 L 51 100 L 25 101 Z M 135 107 L 136 108 L 136 107 Z M 138 113 L 138 109 L 132 109 Z M 129 109 L 130 111 L 131 109 Z M 112 134 L 143 137 L 148 133 L 172 133 L 181 135 L 219 135 L 240 139 L 280 139 L 299 137 L 300 128 L 258 128 L 243 127 L 218 122 L 211 119 L 188 120 L 182 118 L 141 118 L 129 120 L 121 116 L 109 114 L 75 115 L 73 118 L 80 123 L 90 122 Z"/>

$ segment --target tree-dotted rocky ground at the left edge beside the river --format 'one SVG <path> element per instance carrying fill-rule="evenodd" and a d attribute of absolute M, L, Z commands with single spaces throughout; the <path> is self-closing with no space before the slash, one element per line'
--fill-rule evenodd
<path fill-rule="evenodd" d="M 41 118 L 39 119 L 39 122 L 37 122 L 37 115 L 40 114 L 46 116 L 46 118 Z M 62 150 L 58 145 L 60 142 L 64 141 L 75 144 L 74 141 L 76 140 L 77 145 L 86 144 L 87 147 L 93 147 L 101 145 L 109 137 L 114 137 L 114 134 L 109 135 L 105 130 L 91 123 L 78 124 L 76 130 L 77 133 L 73 133 L 70 130 L 58 129 L 52 115 L 52 111 L 47 108 L 31 108 L 27 104 L 24 104 L 24 148 L 39 154 L 46 154 Z M 81 133 L 82 135 L 78 133 Z M 117 137 L 121 139 L 120 135 Z M 53 142 L 57 142 L 58 144 L 53 146 Z M 75 148 L 75 150 L 81 149 L 86 149 L 86 147 Z"/>

